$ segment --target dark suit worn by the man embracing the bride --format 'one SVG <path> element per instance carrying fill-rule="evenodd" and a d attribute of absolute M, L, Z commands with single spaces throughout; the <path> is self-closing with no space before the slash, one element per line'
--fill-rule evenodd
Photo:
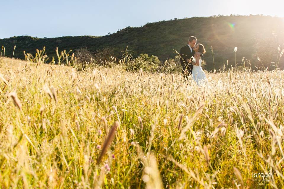
<path fill-rule="evenodd" d="M 190 59 L 191 56 L 194 56 L 194 54 L 195 54 L 195 51 L 192 48 L 192 52 L 191 52 L 188 44 L 186 44 L 184 47 L 180 48 L 180 64 L 181 64 L 181 67 L 183 69 L 183 77 L 187 80 L 189 79 L 189 75 L 191 75 L 191 73 L 192 73 L 193 65 L 192 65 L 192 63 L 189 63 L 185 59 L 187 59 L 187 58 Z M 186 74 L 185 70 L 188 71 L 188 74 Z"/>

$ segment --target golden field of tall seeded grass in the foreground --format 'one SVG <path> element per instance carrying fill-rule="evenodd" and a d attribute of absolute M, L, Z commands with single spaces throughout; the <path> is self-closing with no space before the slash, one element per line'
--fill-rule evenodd
<path fill-rule="evenodd" d="M 284 71 L 200 88 L 9 58 L 0 74 L 0 188 L 284 188 Z"/>

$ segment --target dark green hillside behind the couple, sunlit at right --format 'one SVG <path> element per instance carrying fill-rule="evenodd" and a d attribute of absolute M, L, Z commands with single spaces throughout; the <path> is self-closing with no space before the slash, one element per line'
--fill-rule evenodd
<path fill-rule="evenodd" d="M 83 29 L 83 28 L 82 28 Z M 48 56 L 55 55 L 59 50 L 75 50 L 80 46 L 94 52 L 97 49 L 109 47 L 114 51 L 113 56 L 120 58 L 121 51 L 129 46 L 134 56 L 140 53 L 158 56 L 160 60 L 173 58 L 174 50 L 187 43 L 188 37 L 194 35 L 198 43 L 205 45 L 207 53 L 204 60 L 206 69 L 213 68 L 211 46 L 213 46 L 216 68 L 223 66 L 226 60 L 235 65 L 234 48 L 237 46 L 237 62 L 242 58 L 251 60 L 253 65 L 259 64 L 257 57 L 263 63 L 277 59 L 277 48 L 284 47 L 284 19 L 269 16 L 220 16 L 193 17 L 148 23 L 142 27 L 127 27 L 106 36 L 78 36 L 60 38 L 34 38 L 29 36 L 12 37 L 0 40 L 0 45 L 6 48 L 6 55 L 12 56 L 14 45 L 15 57 L 23 58 L 23 50 L 35 53 L 35 49 L 46 46 Z M 281 50 L 282 50 L 281 48 Z M 280 66 L 284 60 L 281 61 Z M 229 65 L 230 66 L 230 65 Z"/>

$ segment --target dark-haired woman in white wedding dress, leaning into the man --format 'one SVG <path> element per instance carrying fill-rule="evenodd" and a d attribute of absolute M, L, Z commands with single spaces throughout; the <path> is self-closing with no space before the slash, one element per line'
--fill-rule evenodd
<path fill-rule="evenodd" d="M 206 53 L 206 50 L 205 50 L 205 48 L 202 44 L 195 45 L 193 50 L 195 52 Z M 193 58 L 192 77 L 193 77 L 193 80 L 197 83 L 197 85 L 200 86 L 200 84 L 206 83 L 206 82 L 208 82 L 208 80 L 206 78 L 204 71 L 201 68 L 201 57 L 200 57 L 200 55 L 196 56 L 195 58 L 194 57 L 192 57 L 192 58 Z"/>

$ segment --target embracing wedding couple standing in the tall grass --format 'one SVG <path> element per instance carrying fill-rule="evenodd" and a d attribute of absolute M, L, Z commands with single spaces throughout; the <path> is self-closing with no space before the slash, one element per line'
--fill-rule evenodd
<path fill-rule="evenodd" d="M 185 81 L 193 78 L 200 86 L 208 81 L 201 68 L 201 57 L 206 53 L 206 50 L 202 44 L 196 45 L 196 41 L 196 37 L 191 36 L 188 39 L 188 44 L 180 49 L 180 63 Z"/>

